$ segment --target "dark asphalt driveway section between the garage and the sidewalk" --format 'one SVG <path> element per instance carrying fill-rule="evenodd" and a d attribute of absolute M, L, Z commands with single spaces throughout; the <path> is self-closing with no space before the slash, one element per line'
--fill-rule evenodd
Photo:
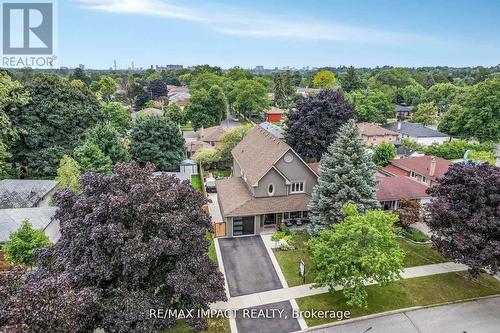
<path fill-rule="evenodd" d="M 282 288 L 259 236 L 221 238 L 219 248 L 231 297 Z"/>

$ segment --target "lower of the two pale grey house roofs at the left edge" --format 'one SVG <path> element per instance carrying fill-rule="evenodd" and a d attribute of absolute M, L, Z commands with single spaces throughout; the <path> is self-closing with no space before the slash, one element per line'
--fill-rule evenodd
<path fill-rule="evenodd" d="M 52 220 L 57 207 L 0 209 L 0 244 L 9 239 L 24 220 L 31 222 L 34 228 L 43 229 L 52 242 L 60 237 L 59 221 Z"/>

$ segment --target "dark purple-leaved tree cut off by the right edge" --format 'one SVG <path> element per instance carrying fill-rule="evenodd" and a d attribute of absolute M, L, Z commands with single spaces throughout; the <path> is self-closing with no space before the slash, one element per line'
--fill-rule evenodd
<path fill-rule="evenodd" d="M 427 225 L 432 242 L 445 257 L 465 264 L 477 276 L 499 270 L 500 168 L 455 163 L 427 192 L 433 197 Z"/>

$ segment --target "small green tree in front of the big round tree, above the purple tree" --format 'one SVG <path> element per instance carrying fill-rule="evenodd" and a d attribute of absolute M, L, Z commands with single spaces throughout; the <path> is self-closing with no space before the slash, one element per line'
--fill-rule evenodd
<path fill-rule="evenodd" d="M 113 169 L 111 158 L 105 155 L 98 145 L 89 140 L 75 148 L 74 157 L 82 173 L 98 172 L 110 175 Z"/>

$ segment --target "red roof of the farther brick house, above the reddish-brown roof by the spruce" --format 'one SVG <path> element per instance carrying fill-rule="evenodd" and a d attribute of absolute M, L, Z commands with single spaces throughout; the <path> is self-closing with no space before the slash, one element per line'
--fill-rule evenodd
<path fill-rule="evenodd" d="M 432 159 L 435 159 L 436 161 L 436 168 L 434 174 L 431 176 L 430 166 Z M 392 166 L 391 169 L 393 170 L 395 167 L 405 171 L 414 171 L 419 175 L 430 177 L 431 179 L 436 179 L 443 177 L 446 171 L 448 171 L 450 165 L 452 164 L 453 162 L 445 160 L 444 158 L 425 155 L 425 156 L 416 156 L 416 157 L 408 157 L 408 158 L 393 160 L 391 162 L 391 165 L 389 165 L 388 167 Z M 384 170 L 390 172 L 388 167 L 386 167 Z"/>

